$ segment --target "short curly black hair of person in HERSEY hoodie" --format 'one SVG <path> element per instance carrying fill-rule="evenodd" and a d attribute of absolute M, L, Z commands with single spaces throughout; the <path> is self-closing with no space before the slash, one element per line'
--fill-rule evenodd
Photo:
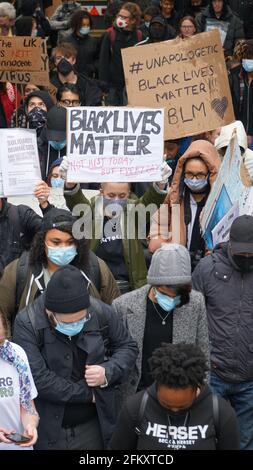
<path fill-rule="evenodd" d="M 153 352 L 149 365 L 155 382 L 173 389 L 203 385 L 208 371 L 202 350 L 186 343 L 162 343 Z"/>

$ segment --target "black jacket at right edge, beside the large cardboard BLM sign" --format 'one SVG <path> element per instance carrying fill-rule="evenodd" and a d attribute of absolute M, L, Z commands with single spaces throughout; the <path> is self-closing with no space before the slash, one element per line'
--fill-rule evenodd
<path fill-rule="evenodd" d="M 241 67 L 230 70 L 228 78 L 235 118 L 242 121 L 248 135 L 253 135 L 253 82 L 248 84 L 247 75 Z M 243 92 L 240 82 L 243 84 Z"/>

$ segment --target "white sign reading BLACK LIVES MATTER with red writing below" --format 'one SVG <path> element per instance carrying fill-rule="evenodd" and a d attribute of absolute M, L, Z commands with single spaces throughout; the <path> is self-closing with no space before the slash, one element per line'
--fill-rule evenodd
<path fill-rule="evenodd" d="M 67 109 L 68 181 L 160 181 L 163 109 Z"/>

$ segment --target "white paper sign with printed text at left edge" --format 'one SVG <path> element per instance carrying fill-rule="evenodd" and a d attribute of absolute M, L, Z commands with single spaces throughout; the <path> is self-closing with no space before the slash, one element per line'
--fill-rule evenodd
<path fill-rule="evenodd" d="M 36 131 L 1 129 L 0 142 L 4 196 L 33 194 L 41 180 Z"/>

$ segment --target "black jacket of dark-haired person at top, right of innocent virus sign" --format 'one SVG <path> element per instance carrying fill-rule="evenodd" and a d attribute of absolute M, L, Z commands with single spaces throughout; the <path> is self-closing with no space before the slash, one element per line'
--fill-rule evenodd
<path fill-rule="evenodd" d="M 72 33 L 65 38 L 77 50 L 76 69 L 78 73 L 85 73 L 93 77 L 98 69 L 99 41 L 89 34 L 80 37 Z"/>

